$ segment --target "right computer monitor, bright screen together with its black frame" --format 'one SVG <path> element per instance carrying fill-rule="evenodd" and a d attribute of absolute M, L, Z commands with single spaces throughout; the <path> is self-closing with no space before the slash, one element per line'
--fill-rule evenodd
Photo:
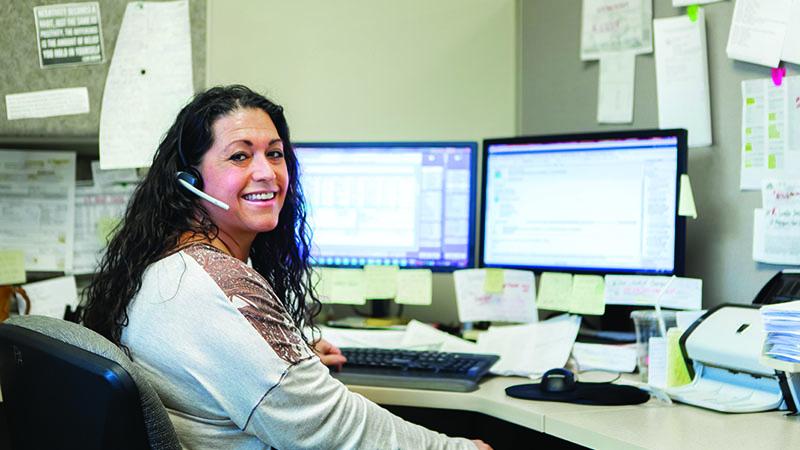
<path fill-rule="evenodd" d="M 682 275 L 685 130 L 484 142 L 480 263 Z"/>

